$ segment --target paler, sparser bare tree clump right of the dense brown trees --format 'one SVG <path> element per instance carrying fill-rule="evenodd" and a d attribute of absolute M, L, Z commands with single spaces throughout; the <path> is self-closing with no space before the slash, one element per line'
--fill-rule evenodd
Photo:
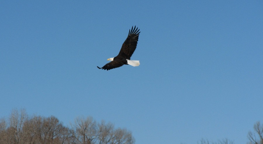
<path fill-rule="evenodd" d="M 134 138 L 126 129 L 114 129 L 112 123 L 97 123 L 92 117 L 78 117 L 74 129 L 77 141 L 83 144 L 133 144 Z"/>

